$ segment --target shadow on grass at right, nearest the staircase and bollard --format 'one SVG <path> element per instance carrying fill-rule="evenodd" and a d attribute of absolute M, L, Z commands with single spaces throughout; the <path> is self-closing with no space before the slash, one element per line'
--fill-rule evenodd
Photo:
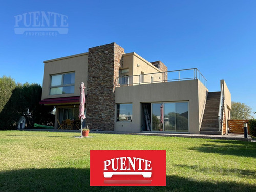
<path fill-rule="evenodd" d="M 211 141 L 216 143 L 226 143 L 226 145 L 219 144 L 202 144 L 200 147 L 190 148 L 204 153 L 218 153 L 222 155 L 235 155 L 243 157 L 256 158 L 256 143 L 253 142 L 238 142 L 236 141 Z"/>

